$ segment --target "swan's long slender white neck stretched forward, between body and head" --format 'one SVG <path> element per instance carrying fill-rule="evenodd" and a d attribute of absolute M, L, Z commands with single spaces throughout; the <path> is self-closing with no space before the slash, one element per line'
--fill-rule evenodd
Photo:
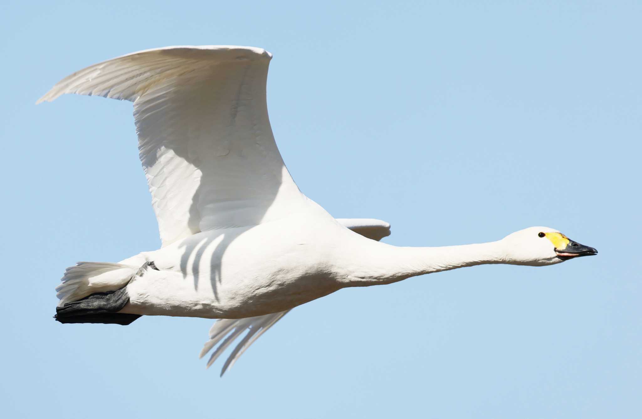
<path fill-rule="evenodd" d="M 416 275 L 488 263 L 507 263 L 501 241 L 444 247 L 396 247 L 385 243 L 348 252 L 346 286 L 388 284 Z"/>

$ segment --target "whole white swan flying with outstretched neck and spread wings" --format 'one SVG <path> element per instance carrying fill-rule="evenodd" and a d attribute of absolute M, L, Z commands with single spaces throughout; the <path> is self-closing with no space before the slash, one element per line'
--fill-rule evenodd
<path fill-rule="evenodd" d="M 245 333 L 221 375 L 290 309 L 341 288 L 390 284 L 486 263 L 544 266 L 594 255 L 556 229 L 489 243 L 396 247 L 388 223 L 335 219 L 300 192 L 272 136 L 272 54 L 178 46 L 127 54 L 62 79 L 62 94 L 134 103 L 138 149 L 162 247 L 78 262 L 56 287 L 62 323 L 130 324 L 141 315 L 216 318 L 207 366 Z"/>

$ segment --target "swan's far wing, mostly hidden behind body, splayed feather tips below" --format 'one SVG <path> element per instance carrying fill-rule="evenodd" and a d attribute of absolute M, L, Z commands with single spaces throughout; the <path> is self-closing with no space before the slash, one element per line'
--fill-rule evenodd
<path fill-rule="evenodd" d="M 372 240 L 378 241 L 383 237 L 390 236 L 390 224 L 382 220 L 376 220 L 375 218 L 337 218 L 336 220 L 340 222 L 340 224 L 343 224 L 343 226 Z M 216 320 L 212 328 L 209 329 L 209 340 L 205 342 L 200 352 L 200 357 L 204 357 L 217 343 L 221 342 L 207 361 L 207 368 L 209 368 L 214 361 L 221 356 L 225 349 L 239 338 L 241 334 L 247 331 L 247 334 L 237 343 L 236 347 L 234 347 L 227 357 L 225 364 L 223 364 L 223 368 L 221 368 L 222 376 L 228 368 L 236 363 L 236 360 L 243 355 L 243 352 L 245 352 L 261 334 L 268 331 L 270 327 L 281 320 L 282 316 L 288 314 L 289 311 L 290 310 L 286 310 L 256 317 L 221 318 Z"/>

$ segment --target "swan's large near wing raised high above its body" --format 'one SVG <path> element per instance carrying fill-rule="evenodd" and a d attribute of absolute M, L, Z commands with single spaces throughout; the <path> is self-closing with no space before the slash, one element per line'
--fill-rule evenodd
<path fill-rule="evenodd" d="M 66 93 L 134 102 L 139 155 L 166 246 L 304 208 L 268 119 L 271 58 L 252 47 L 150 49 L 75 72 L 38 103 Z"/>

